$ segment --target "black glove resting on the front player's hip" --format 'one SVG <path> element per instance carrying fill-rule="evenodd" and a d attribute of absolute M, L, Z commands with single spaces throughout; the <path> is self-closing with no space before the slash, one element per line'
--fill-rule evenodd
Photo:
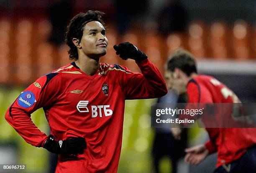
<path fill-rule="evenodd" d="M 86 142 L 84 137 L 72 137 L 67 140 L 56 141 L 53 135 L 49 135 L 44 148 L 56 154 L 82 154 L 86 148 Z"/>

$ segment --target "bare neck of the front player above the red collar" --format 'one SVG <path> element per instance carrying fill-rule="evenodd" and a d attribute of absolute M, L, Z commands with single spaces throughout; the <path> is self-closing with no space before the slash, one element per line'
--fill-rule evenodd
<path fill-rule="evenodd" d="M 100 58 L 92 59 L 87 56 L 80 56 L 75 63 L 80 68 L 80 70 L 82 70 L 85 74 L 93 76 L 97 73 L 97 70 L 100 67 Z"/>

